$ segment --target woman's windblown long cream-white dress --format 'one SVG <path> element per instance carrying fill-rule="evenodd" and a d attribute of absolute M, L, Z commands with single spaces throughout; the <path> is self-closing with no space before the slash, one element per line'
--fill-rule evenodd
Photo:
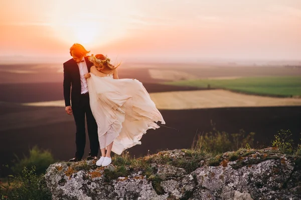
<path fill-rule="evenodd" d="M 146 130 L 165 121 L 141 82 L 135 79 L 98 77 L 90 73 L 90 107 L 98 125 L 98 138 L 105 134 L 105 145 L 112 141 L 112 151 L 121 154 L 139 141 Z"/>

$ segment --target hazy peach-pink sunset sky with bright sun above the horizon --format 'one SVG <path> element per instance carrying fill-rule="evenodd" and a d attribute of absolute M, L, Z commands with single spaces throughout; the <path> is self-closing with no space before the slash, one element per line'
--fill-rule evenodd
<path fill-rule="evenodd" d="M 10 0 L 0 58 L 301 60 L 300 0 Z"/>

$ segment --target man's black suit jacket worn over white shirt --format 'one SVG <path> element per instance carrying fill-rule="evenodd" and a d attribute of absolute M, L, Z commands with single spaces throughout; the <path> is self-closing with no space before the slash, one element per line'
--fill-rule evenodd
<path fill-rule="evenodd" d="M 88 57 L 85 57 L 87 64 L 88 72 L 90 72 L 93 63 L 88 60 Z M 81 94 L 81 81 L 80 73 L 77 63 L 70 59 L 69 61 L 63 64 L 64 66 L 64 98 L 65 106 L 78 106 L 79 98 Z M 70 92 L 71 92 L 71 104 L 70 104 Z"/>

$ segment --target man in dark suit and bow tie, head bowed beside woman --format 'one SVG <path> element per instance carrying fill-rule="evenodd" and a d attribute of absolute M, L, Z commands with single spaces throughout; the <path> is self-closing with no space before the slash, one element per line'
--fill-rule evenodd
<path fill-rule="evenodd" d="M 69 160 L 71 162 L 81 160 L 84 155 L 86 145 L 85 115 L 90 140 L 90 153 L 87 160 L 96 160 L 99 149 L 97 124 L 90 109 L 88 83 L 84 78 L 84 75 L 90 72 L 90 68 L 93 66 L 87 58 L 88 53 L 89 51 L 82 45 L 75 43 L 70 48 L 72 59 L 64 63 L 65 111 L 69 115 L 73 114 L 76 124 L 76 153 Z M 72 106 L 70 104 L 70 91 Z"/>

